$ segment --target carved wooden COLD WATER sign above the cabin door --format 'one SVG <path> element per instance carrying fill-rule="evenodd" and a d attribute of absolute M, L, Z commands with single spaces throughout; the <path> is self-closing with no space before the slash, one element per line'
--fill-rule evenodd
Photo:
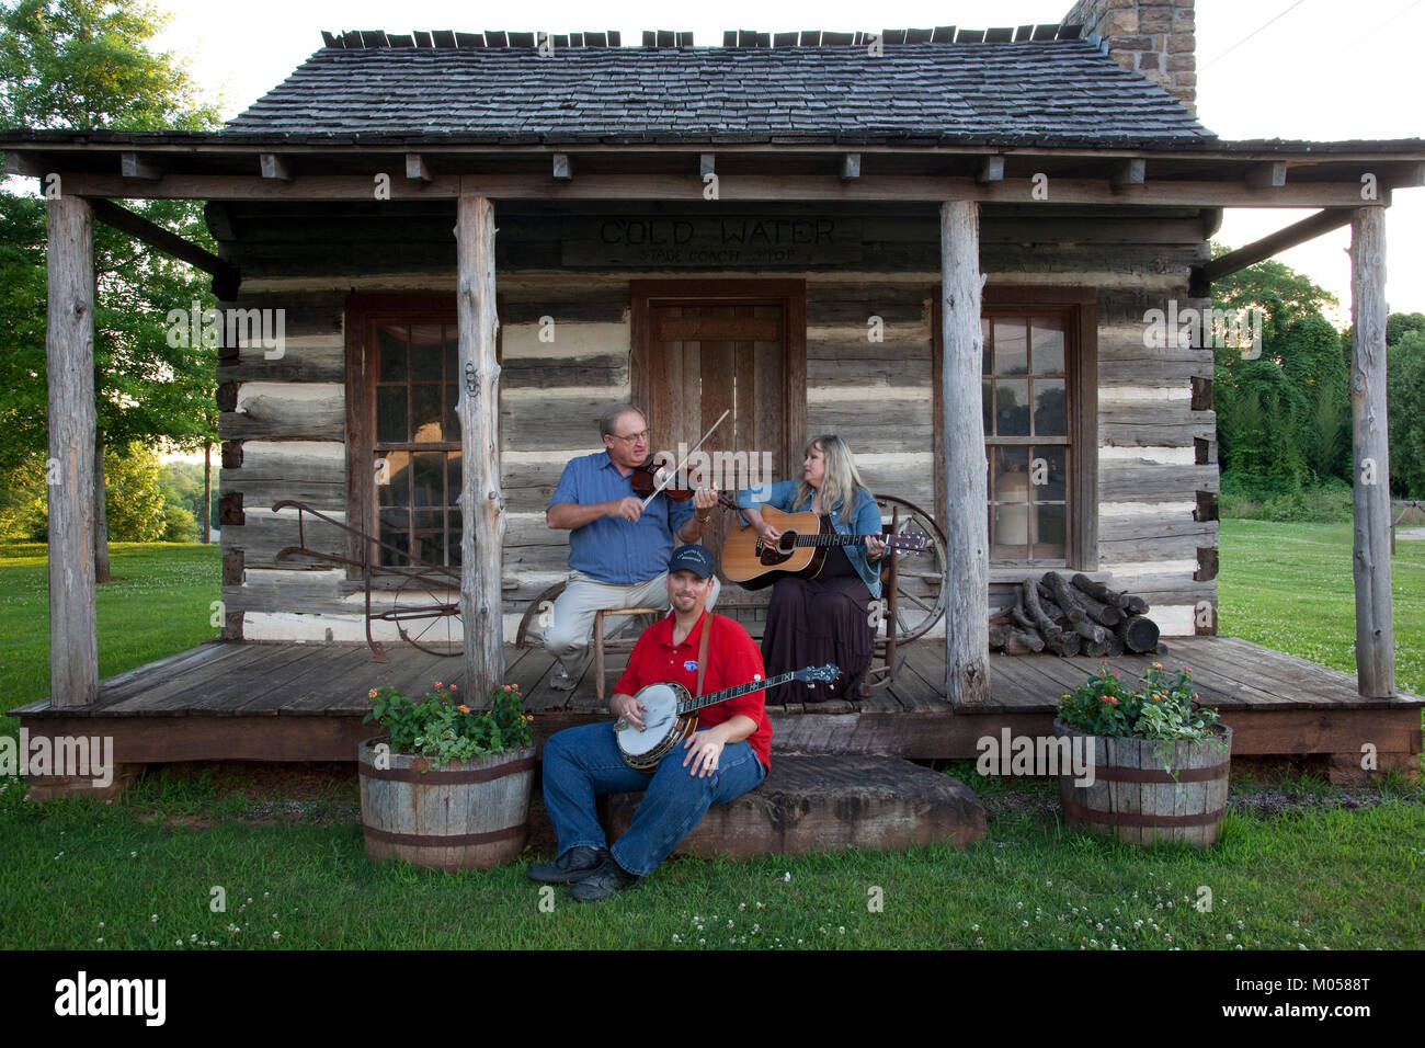
<path fill-rule="evenodd" d="M 563 224 L 564 265 L 744 267 L 861 261 L 861 221 L 770 215 L 604 215 Z"/>

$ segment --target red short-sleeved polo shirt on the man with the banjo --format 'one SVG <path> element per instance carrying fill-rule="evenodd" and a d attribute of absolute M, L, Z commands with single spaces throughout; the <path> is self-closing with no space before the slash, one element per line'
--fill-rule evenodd
<path fill-rule="evenodd" d="M 698 643 L 703 640 L 703 629 L 711 619 L 712 637 L 708 643 L 708 672 L 703 680 L 703 693 L 721 692 L 724 687 L 747 684 L 752 680 L 764 680 L 767 670 L 762 669 L 762 653 L 747 630 L 725 615 L 707 612 L 698 619 L 687 640 L 681 644 L 673 643 L 673 615 L 656 622 L 646 629 L 634 644 L 633 654 L 628 656 L 628 669 L 618 677 L 614 692 L 618 694 L 637 694 L 640 687 L 648 684 L 663 684 L 673 682 L 688 689 L 688 694 L 698 693 Z M 747 737 L 762 767 L 772 766 L 772 726 L 767 720 L 767 706 L 762 702 L 765 692 L 728 699 L 724 703 L 714 703 L 698 710 L 698 727 L 712 727 L 725 720 L 731 720 L 738 713 L 757 721 L 757 730 Z"/>

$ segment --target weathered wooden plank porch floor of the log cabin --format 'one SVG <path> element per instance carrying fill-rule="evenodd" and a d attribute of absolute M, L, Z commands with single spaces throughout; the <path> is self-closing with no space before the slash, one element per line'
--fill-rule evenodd
<path fill-rule="evenodd" d="M 1056 656 L 990 656 L 990 702 L 955 707 L 945 700 L 945 650 L 905 649 L 905 664 L 886 689 L 861 702 L 771 706 L 774 749 L 903 757 L 975 757 L 976 740 L 1052 731 L 1063 692 L 1099 660 Z M 608 684 L 627 654 L 610 654 Z M 536 714 L 536 741 L 573 724 L 607 717 L 594 694 L 593 670 L 573 692 L 549 687 L 551 659 L 537 649 L 506 649 L 506 682 L 517 683 Z M 1206 704 L 1233 724 L 1238 756 L 1419 754 L 1425 699 L 1399 693 L 1367 700 L 1355 679 L 1235 637 L 1183 637 L 1163 656 L 1109 659 L 1137 680 L 1153 662 L 1187 664 Z M 100 683 L 100 700 L 80 710 L 48 700 L 13 710 L 34 734 L 111 734 L 118 763 L 175 760 L 353 760 L 373 734 L 362 724 L 370 687 L 390 683 L 419 693 L 433 682 L 463 684 L 459 659 L 393 649 L 386 663 L 355 644 L 207 643 Z"/>

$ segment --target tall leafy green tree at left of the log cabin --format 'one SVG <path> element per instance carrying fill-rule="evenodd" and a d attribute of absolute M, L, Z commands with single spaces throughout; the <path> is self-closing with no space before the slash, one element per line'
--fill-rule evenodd
<path fill-rule="evenodd" d="M 217 110 L 148 41 L 168 16 L 137 0 L 0 0 L 0 125 L 204 130 Z M 150 221 L 212 250 L 200 205 L 148 201 Z M 0 192 L 0 469 L 44 452 L 44 201 Z M 98 451 L 134 441 L 198 448 L 217 436 L 215 351 L 171 348 L 165 318 L 211 305 L 207 278 L 104 225 L 94 230 Z M 104 462 L 107 456 L 97 456 Z M 97 503 L 104 490 L 98 471 Z M 98 576 L 107 579 L 104 523 Z"/>

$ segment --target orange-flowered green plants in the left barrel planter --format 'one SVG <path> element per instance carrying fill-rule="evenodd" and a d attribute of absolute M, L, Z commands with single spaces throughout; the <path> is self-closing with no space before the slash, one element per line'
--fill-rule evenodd
<path fill-rule="evenodd" d="M 524 713 L 517 684 L 496 689 L 486 709 L 479 710 L 456 703 L 455 692 L 455 684 L 437 680 L 433 692 L 413 702 L 389 684 L 373 687 L 366 697 L 370 710 L 362 723 L 385 727 L 393 753 L 432 757 L 436 767 L 533 744 L 534 717 Z"/>

